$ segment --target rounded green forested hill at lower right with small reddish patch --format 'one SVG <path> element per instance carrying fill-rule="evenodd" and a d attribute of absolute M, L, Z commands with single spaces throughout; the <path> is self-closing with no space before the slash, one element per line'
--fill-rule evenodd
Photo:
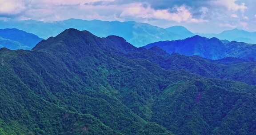
<path fill-rule="evenodd" d="M 177 135 L 254 135 L 255 115 L 250 115 L 254 97 L 232 91 L 237 87 L 228 88 L 227 82 L 222 87 L 214 83 L 220 82 L 205 79 L 170 85 L 152 107 L 153 121 Z"/>

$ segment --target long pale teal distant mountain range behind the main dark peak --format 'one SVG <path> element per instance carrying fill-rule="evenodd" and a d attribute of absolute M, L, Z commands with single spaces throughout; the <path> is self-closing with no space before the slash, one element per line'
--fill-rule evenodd
<path fill-rule="evenodd" d="M 157 41 L 184 39 L 192 35 L 191 33 L 190 35 L 187 34 L 189 32 L 183 33 L 185 28 L 180 29 L 180 27 L 164 29 L 150 24 L 137 22 L 89 21 L 80 19 L 69 19 L 56 22 L 42 22 L 35 20 L 0 21 L 0 28 L 18 28 L 44 39 L 47 39 L 50 36 L 56 36 L 65 29 L 76 28 L 78 30 L 90 31 L 94 35 L 100 37 L 109 35 L 121 36 L 136 47 L 141 47 Z"/>

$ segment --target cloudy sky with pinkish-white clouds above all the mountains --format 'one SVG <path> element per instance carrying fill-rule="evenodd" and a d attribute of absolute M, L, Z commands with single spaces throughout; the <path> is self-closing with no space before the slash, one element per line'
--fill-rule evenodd
<path fill-rule="evenodd" d="M 0 0 L 0 20 L 138 21 L 193 32 L 256 31 L 256 0 Z"/>

